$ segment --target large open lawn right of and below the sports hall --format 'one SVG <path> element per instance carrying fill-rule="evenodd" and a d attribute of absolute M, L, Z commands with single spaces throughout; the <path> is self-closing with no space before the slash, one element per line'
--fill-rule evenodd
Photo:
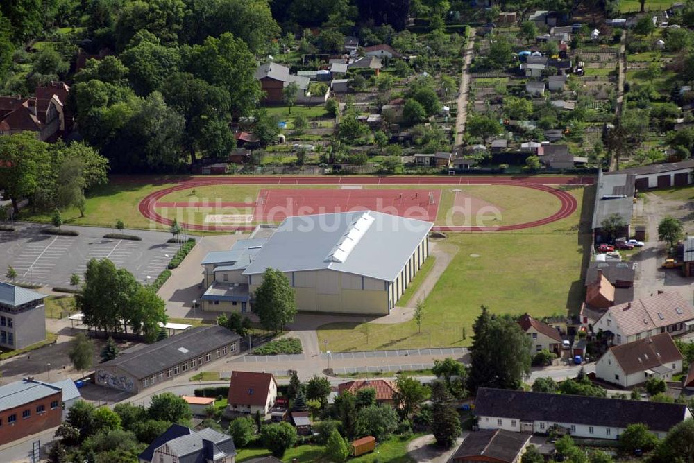
<path fill-rule="evenodd" d="M 482 304 L 492 313 L 528 312 L 536 317 L 577 311 L 591 239 L 579 234 L 579 223 L 589 224 L 594 189 L 570 191 L 579 209 L 569 218 L 514 233 L 448 234 L 443 243 L 457 252 L 425 300 L 421 333 L 414 320 L 340 322 L 321 326 L 319 345 L 335 352 L 465 346 Z M 581 209 L 584 200 L 586 211 Z"/>

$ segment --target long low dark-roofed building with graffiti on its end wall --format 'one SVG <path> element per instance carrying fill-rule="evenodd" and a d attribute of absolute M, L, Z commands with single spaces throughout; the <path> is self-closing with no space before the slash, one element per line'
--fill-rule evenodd
<path fill-rule="evenodd" d="M 138 344 L 96 367 L 95 383 L 137 394 L 230 354 L 240 336 L 223 326 L 197 326 L 153 344 Z"/>

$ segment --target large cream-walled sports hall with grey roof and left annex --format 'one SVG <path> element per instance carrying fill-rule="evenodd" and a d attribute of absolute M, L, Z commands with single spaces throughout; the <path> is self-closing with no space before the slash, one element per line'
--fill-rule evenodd
<path fill-rule="evenodd" d="M 267 268 L 285 274 L 306 312 L 387 315 L 429 255 L 432 223 L 375 211 L 286 218 L 202 261 L 203 311 L 250 311 Z"/>

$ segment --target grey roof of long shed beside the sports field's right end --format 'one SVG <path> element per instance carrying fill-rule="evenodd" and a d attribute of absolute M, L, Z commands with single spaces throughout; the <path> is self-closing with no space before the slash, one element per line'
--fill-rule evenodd
<path fill-rule="evenodd" d="M 624 198 L 615 198 L 616 196 L 624 196 Z M 632 222 L 633 209 L 634 175 L 599 173 L 598 191 L 595 193 L 595 211 L 593 211 L 593 229 L 600 228 L 602 221 L 613 213 L 622 216 L 629 224 Z"/>

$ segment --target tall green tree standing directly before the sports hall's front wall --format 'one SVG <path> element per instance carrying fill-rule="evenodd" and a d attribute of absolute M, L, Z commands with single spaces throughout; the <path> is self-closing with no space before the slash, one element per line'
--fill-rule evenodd
<path fill-rule="evenodd" d="M 266 330 L 276 333 L 294 321 L 296 299 L 294 289 L 284 273 L 268 268 L 263 274 L 262 283 L 255 290 L 253 311 Z"/>

